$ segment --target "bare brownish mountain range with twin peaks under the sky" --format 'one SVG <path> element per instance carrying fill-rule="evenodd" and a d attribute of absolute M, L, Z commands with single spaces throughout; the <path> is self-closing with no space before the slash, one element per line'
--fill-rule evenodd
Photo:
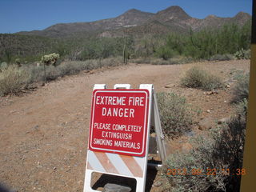
<path fill-rule="evenodd" d="M 234 18 L 220 18 L 210 15 L 204 19 L 192 18 L 179 6 L 170 6 L 156 14 L 141 10 L 128 10 L 116 18 L 95 22 L 59 23 L 45 30 L 23 31 L 18 34 L 38 35 L 50 38 L 70 37 L 78 34 L 98 34 L 102 37 L 122 36 L 124 34 L 166 34 L 168 32 L 187 32 L 204 28 L 218 28 L 227 23 L 242 26 L 251 18 L 250 14 L 239 12 Z"/>

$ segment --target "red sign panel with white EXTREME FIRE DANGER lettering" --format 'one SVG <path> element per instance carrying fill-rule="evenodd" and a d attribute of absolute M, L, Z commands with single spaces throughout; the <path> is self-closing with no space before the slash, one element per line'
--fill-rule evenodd
<path fill-rule="evenodd" d="M 145 155 L 148 90 L 94 90 L 90 150 Z"/>

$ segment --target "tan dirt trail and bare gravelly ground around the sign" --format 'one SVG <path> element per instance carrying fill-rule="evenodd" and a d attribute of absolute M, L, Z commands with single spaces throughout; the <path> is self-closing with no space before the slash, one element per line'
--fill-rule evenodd
<path fill-rule="evenodd" d="M 203 90 L 179 86 L 185 71 L 195 65 L 218 74 L 230 83 L 230 88 L 207 95 Z M 0 182 L 16 191 L 82 191 L 91 95 L 96 83 L 108 88 L 116 83 L 129 83 L 133 88 L 154 84 L 156 92 L 184 95 L 187 102 L 202 110 L 198 119 L 220 119 L 229 117 L 233 110 L 232 77 L 238 70 L 248 72 L 249 66 L 249 60 L 170 66 L 129 64 L 90 74 L 81 72 L 19 97 L 0 98 Z M 182 150 L 186 137 L 169 143 L 168 153 Z M 155 180 L 158 178 L 159 174 Z M 160 188 L 148 186 L 147 191 Z"/>

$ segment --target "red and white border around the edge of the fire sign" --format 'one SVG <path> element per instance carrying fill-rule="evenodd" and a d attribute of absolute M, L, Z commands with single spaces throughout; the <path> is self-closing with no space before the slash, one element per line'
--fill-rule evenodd
<path fill-rule="evenodd" d="M 144 118 L 144 125 L 145 129 L 143 132 L 143 141 L 142 141 L 142 152 L 141 153 L 134 153 L 130 151 L 122 151 L 122 150 L 109 150 L 109 149 L 102 149 L 102 148 L 95 148 L 91 146 L 91 142 L 93 141 L 93 123 L 94 123 L 94 108 L 95 108 L 95 96 L 97 92 L 140 92 L 140 93 L 145 93 L 146 94 L 146 110 L 145 110 L 145 118 Z M 137 157 L 145 157 L 146 155 L 146 143 L 147 143 L 147 135 L 148 135 L 148 119 L 149 119 L 149 112 L 150 112 L 150 91 L 146 89 L 133 89 L 133 90 L 126 90 L 126 89 L 97 89 L 94 90 L 93 92 L 93 100 L 92 100 L 92 107 L 91 107 L 91 115 L 90 115 L 90 135 L 89 135 L 89 150 L 91 151 L 99 151 L 99 152 L 105 152 L 105 153 L 111 153 L 111 154 L 124 154 L 124 155 L 129 155 L 129 156 L 137 156 Z"/>

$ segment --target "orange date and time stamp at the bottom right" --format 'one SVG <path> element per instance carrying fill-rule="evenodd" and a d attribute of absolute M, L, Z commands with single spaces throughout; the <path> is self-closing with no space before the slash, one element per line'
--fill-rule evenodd
<path fill-rule="evenodd" d="M 246 175 L 246 169 L 238 168 L 238 169 L 226 169 L 226 168 L 168 168 L 166 170 L 166 174 L 169 176 L 178 176 L 178 175 L 191 175 L 191 176 L 200 176 L 200 175 L 209 175 L 216 176 L 219 174 L 228 175 L 228 176 L 242 176 Z"/>

